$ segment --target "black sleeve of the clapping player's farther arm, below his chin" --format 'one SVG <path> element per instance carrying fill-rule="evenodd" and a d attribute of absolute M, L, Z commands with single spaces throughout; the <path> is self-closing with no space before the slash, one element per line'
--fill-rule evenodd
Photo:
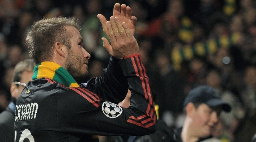
<path fill-rule="evenodd" d="M 124 76 L 119 64 L 119 59 L 110 57 L 107 68 L 103 70 L 103 76 L 94 77 L 81 87 L 98 94 L 100 98 L 118 104 L 121 102 L 127 92 L 127 77 Z"/>

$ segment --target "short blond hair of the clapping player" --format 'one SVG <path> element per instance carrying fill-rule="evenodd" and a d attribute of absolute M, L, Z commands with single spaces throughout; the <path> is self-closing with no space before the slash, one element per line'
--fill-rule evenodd
<path fill-rule="evenodd" d="M 75 17 L 44 18 L 35 22 L 27 33 L 26 43 L 29 56 L 34 64 L 50 61 L 53 56 L 53 45 L 60 42 L 69 49 L 71 35 L 65 26 L 73 26 L 80 31 L 81 25 Z"/>

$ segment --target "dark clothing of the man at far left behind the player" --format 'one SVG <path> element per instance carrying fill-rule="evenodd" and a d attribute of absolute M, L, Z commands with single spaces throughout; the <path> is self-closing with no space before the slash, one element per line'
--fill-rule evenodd
<path fill-rule="evenodd" d="M 11 104 L 0 114 L 0 142 L 14 141 L 15 104 Z"/>

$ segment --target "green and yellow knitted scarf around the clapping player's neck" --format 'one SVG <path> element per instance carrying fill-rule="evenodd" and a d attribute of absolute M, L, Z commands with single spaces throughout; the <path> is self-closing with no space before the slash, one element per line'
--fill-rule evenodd
<path fill-rule="evenodd" d="M 42 77 L 62 83 L 65 86 L 79 87 L 68 71 L 55 62 L 41 62 L 34 67 L 32 80 Z"/>

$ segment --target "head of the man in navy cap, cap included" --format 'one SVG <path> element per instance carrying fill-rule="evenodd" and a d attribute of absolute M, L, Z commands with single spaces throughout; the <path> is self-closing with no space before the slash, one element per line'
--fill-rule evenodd
<path fill-rule="evenodd" d="M 222 110 L 229 112 L 231 107 L 222 101 L 216 89 L 210 86 L 198 86 L 192 89 L 185 101 L 186 121 L 193 128 L 193 136 L 205 138 L 211 135 L 219 121 Z"/>

